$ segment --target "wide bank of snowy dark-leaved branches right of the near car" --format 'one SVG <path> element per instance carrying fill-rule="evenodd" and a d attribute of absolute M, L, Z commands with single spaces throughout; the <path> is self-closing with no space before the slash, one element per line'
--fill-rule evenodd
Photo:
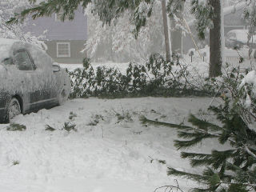
<path fill-rule="evenodd" d="M 188 66 L 179 61 L 174 66 L 174 62 L 166 62 L 160 54 L 151 55 L 145 65 L 130 63 L 126 74 L 122 74 L 118 67 L 94 69 L 88 58 L 83 64 L 83 69 L 70 72 L 71 98 L 210 94 L 208 88 L 194 81 Z"/>

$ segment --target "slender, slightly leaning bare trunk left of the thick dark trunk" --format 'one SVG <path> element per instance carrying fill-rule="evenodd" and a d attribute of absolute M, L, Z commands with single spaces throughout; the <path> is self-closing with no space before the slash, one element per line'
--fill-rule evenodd
<path fill-rule="evenodd" d="M 162 0 L 162 19 L 163 19 L 163 28 L 164 28 L 165 44 L 166 44 L 166 61 L 170 62 L 170 45 L 169 45 L 169 36 L 168 36 L 167 14 L 166 14 L 166 0 Z"/>

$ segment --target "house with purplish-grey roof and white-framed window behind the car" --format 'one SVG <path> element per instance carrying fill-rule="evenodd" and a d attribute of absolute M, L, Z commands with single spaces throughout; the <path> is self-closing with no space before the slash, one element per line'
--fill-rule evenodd
<path fill-rule="evenodd" d="M 86 57 L 81 51 L 87 40 L 87 18 L 82 8 L 75 11 L 74 20 L 61 21 L 62 13 L 51 17 L 31 19 L 26 32 L 38 37 L 46 43 L 47 54 L 58 63 L 82 63 Z"/>

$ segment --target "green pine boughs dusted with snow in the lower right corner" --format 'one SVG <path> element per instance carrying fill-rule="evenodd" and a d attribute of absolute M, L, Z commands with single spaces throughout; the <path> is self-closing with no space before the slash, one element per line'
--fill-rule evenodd
<path fill-rule="evenodd" d="M 218 139 L 228 144 L 228 150 L 212 150 L 209 154 L 182 152 L 192 167 L 205 167 L 201 174 L 168 168 L 167 174 L 199 182 L 194 191 L 246 192 L 256 190 L 256 72 L 252 71 L 242 81 L 240 74 L 228 74 L 219 89 L 223 103 L 210 106 L 216 123 L 191 114 L 191 126 L 156 122 L 142 118 L 143 122 L 170 126 L 178 130 L 174 141 L 178 150 L 190 149 L 206 139 Z M 240 79 L 240 80 L 239 80 Z M 198 172 L 198 171 L 197 171 Z"/>

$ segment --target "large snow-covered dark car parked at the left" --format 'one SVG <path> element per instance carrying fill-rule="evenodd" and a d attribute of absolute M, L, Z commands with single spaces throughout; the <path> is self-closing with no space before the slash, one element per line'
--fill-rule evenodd
<path fill-rule="evenodd" d="M 70 94 L 66 70 L 44 50 L 0 38 L 0 122 L 61 105 Z"/>

